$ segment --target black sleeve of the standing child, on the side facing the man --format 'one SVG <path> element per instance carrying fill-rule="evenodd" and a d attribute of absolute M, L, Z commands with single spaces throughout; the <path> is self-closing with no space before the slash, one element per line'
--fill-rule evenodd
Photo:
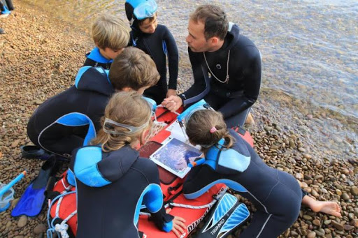
<path fill-rule="evenodd" d="M 177 79 L 178 79 L 178 68 L 179 68 L 179 54 L 178 47 L 176 45 L 176 40 L 173 35 L 166 28 L 164 35 L 164 40 L 166 42 L 166 50 L 168 50 L 168 64 L 169 64 L 169 89 L 176 90 Z"/>

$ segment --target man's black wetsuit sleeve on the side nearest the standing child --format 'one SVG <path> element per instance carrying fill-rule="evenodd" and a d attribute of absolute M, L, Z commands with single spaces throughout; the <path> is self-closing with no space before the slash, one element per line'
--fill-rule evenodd
<path fill-rule="evenodd" d="M 192 64 L 192 70 L 194 75 L 194 84 L 187 89 L 184 93 L 180 94 L 182 103 L 184 105 L 190 103 L 196 103 L 201 100 L 210 91 L 210 84 L 208 82 L 208 76 L 205 77 L 203 69 L 201 68 L 202 60 L 199 59 L 199 54 L 196 54 L 188 47 L 189 59 Z"/>

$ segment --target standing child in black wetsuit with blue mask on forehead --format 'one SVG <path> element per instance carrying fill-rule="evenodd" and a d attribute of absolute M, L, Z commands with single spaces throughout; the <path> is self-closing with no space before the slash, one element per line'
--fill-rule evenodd
<path fill-rule="evenodd" d="M 178 47 L 176 40 L 166 26 L 157 22 L 155 0 L 127 0 L 126 14 L 131 22 L 129 45 L 138 47 L 155 61 L 160 79 L 157 84 L 145 90 L 145 96 L 159 105 L 164 98 L 176 96 L 178 78 Z M 169 83 L 166 82 L 166 58 L 169 64 Z"/>

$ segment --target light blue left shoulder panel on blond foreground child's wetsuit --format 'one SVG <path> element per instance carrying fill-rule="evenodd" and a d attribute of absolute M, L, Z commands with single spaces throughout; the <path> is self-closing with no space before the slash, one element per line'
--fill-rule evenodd
<path fill-rule="evenodd" d="M 77 179 L 91 187 L 103 187 L 110 184 L 110 181 L 105 179 L 97 168 L 97 163 L 101 159 L 101 147 L 83 147 L 78 149 L 73 166 Z"/>

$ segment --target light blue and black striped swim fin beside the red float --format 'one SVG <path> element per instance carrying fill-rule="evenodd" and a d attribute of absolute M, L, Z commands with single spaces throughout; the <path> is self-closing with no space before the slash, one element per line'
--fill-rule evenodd
<path fill-rule="evenodd" d="M 217 202 L 210 218 L 203 228 L 196 233 L 197 238 L 224 238 L 228 237 L 235 228 L 245 224 L 250 212 L 245 204 L 229 193 L 225 193 Z"/>

